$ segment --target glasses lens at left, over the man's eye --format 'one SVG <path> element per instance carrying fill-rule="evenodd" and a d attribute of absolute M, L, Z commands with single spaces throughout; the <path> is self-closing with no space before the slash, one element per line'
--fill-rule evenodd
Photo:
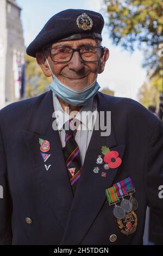
<path fill-rule="evenodd" d="M 51 57 L 54 62 L 67 62 L 71 59 L 72 49 L 68 47 L 55 47 L 51 49 Z"/>

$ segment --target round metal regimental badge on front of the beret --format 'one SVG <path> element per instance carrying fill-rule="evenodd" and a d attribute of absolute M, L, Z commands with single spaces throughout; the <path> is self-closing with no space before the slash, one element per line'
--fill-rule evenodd
<path fill-rule="evenodd" d="M 91 28 L 93 27 L 93 21 L 86 13 L 83 13 L 78 17 L 77 25 L 78 28 L 83 29 L 85 31 L 91 30 Z"/>

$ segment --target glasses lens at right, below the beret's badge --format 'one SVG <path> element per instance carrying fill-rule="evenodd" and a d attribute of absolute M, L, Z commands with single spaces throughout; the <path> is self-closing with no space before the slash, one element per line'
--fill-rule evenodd
<path fill-rule="evenodd" d="M 99 47 L 82 47 L 80 48 L 80 55 L 86 62 L 97 62 L 101 58 L 102 48 Z"/>

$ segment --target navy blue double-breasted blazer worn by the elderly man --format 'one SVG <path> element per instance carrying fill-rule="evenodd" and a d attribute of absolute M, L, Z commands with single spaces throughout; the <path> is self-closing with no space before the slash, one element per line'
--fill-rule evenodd
<path fill-rule="evenodd" d="M 111 111 L 111 135 L 94 130 L 73 197 L 59 132 L 52 129 L 52 92 L 12 103 L 0 111 L 1 245 L 140 245 L 146 207 L 155 212 L 163 237 L 163 129 L 161 121 L 134 100 L 98 93 L 99 111 Z M 50 142 L 51 157 L 40 154 L 39 138 Z M 120 167 L 106 178 L 94 173 L 101 147 L 117 150 Z M 122 234 L 105 189 L 130 177 L 137 228 Z M 32 222 L 26 222 L 30 218 Z M 110 241 L 115 234 L 117 239 Z"/>

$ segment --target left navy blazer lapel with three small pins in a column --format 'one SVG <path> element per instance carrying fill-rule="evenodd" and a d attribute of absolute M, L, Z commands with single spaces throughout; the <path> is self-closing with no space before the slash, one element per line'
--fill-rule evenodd
<path fill-rule="evenodd" d="M 64 230 L 73 200 L 73 193 L 62 154 L 59 132 L 52 128 L 53 112 L 52 92 L 49 91 L 33 114 L 30 131 L 22 132 L 30 159 L 33 162 L 37 181 Z M 51 156 L 46 162 L 43 161 L 41 156 L 40 138 L 50 143 L 50 149 L 46 154 Z M 49 167 L 48 170 L 46 170 L 45 164 Z"/>

